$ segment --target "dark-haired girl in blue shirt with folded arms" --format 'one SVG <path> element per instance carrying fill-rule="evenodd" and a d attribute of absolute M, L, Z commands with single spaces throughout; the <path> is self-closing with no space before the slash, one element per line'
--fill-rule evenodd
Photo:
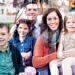
<path fill-rule="evenodd" d="M 29 21 L 25 19 L 19 20 L 19 24 L 16 26 L 14 38 L 10 42 L 18 48 L 22 57 L 23 65 L 32 65 L 32 55 L 34 50 L 35 39 L 30 36 Z"/>

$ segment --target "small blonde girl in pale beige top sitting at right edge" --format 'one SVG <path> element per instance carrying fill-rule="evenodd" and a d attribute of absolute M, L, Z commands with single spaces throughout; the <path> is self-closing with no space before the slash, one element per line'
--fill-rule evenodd
<path fill-rule="evenodd" d="M 59 75 L 58 65 L 62 66 L 63 75 L 72 75 L 71 66 L 75 65 L 75 12 L 69 12 L 64 19 L 64 33 L 61 34 L 58 57 L 58 60 L 50 63 L 51 75 Z"/>

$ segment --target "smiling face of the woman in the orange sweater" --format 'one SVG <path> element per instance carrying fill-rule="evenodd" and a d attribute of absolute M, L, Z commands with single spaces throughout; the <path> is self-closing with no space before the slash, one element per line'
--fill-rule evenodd
<path fill-rule="evenodd" d="M 47 16 L 47 25 L 52 30 L 55 31 L 59 26 L 59 17 L 55 11 L 51 12 Z"/>

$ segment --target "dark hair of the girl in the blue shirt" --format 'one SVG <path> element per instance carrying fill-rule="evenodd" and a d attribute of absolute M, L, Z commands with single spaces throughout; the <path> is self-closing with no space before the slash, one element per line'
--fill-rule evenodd
<path fill-rule="evenodd" d="M 29 21 L 29 20 L 26 20 L 26 19 L 20 19 L 20 20 L 19 20 L 19 23 L 16 24 L 17 26 L 16 26 L 16 30 L 15 30 L 15 32 L 14 32 L 13 37 L 15 38 L 15 37 L 19 36 L 19 35 L 18 35 L 18 32 L 17 32 L 17 28 L 18 28 L 18 26 L 19 26 L 20 24 L 26 24 L 26 25 L 28 26 L 28 28 L 29 28 L 29 33 L 28 33 L 28 35 L 31 35 L 31 32 L 30 32 L 30 31 L 31 31 L 31 30 L 30 30 L 30 21 Z"/>

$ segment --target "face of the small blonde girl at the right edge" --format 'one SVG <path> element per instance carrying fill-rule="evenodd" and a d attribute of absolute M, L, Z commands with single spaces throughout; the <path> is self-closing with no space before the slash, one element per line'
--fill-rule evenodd
<path fill-rule="evenodd" d="M 69 16 L 66 21 L 66 28 L 68 32 L 75 32 L 75 19 L 73 16 Z"/>

